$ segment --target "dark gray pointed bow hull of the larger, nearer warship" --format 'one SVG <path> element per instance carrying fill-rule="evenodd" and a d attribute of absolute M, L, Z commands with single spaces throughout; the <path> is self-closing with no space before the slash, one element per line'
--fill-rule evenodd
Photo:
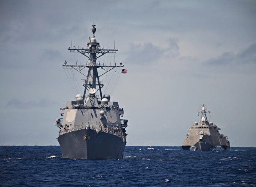
<path fill-rule="evenodd" d="M 125 142 L 122 138 L 92 129 L 75 130 L 58 137 L 62 158 L 122 159 Z"/>

